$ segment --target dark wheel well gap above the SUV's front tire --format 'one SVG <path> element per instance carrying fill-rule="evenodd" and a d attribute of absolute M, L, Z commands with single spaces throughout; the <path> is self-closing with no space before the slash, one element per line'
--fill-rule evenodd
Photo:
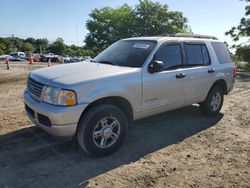
<path fill-rule="evenodd" d="M 120 108 L 125 113 L 129 122 L 133 121 L 133 119 L 134 119 L 133 108 L 132 108 L 130 102 L 128 100 L 124 99 L 123 97 L 105 97 L 105 98 L 98 99 L 98 100 L 90 103 L 87 106 L 87 108 L 85 108 L 82 115 L 84 113 L 86 113 L 88 110 L 90 110 L 91 108 L 93 108 L 94 106 L 99 105 L 99 104 L 114 105 L 114 106 Z"/>

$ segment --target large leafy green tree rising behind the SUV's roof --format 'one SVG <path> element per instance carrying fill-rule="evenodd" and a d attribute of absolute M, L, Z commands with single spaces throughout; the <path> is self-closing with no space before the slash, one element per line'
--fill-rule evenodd
<path fill-rule="evenodd" d="M 135 8 L 125 4 L 94 9 L 86 24 L 89 33 L 85 43 L 98 53 L 122 38 L 188 32 L 186 23 L 181 12 L 170 11 L 167 5 L 149 0 L 140 0 Z"/>

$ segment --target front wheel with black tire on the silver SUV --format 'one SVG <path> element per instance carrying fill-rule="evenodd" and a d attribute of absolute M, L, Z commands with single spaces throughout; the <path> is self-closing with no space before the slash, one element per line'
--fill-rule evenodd
<path fill-rule="evenodd" d="M 122 144 L 128 120 L 118 107 L 101 104 L 87 111 L 78 126 L 80 147 L 91 156 L 103 157 L 115 152 Z"/>

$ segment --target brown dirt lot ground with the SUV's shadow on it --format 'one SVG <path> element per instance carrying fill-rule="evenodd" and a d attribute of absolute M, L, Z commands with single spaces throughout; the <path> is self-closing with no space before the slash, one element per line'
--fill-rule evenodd
<path fill-rule="evenodd" d="M 25 115 L 26 78 L 46 66 L 0 62 L 0 187 L 249 187 L 250 73 L 238 74 L 219 116 L 193 105 L 142 119 L 118 152 L 90 158 Z"/>

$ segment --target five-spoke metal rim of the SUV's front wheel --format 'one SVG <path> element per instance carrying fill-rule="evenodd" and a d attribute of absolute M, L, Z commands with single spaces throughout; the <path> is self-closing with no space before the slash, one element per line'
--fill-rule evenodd
<path fill-rule="evenodd" d="M 105 117 L 93 130 L 93 141 L 101 149 L 114 145 L 120 136 L 121 125 L 115 117 Z"/>

